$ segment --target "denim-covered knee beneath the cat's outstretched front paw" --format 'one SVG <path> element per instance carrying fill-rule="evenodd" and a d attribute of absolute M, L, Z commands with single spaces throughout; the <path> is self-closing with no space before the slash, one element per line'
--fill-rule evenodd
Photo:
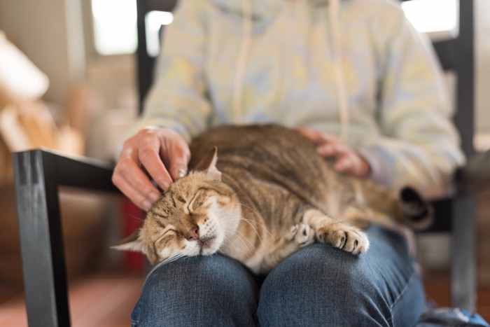
<path fill-rule="evenodd" d="M 383 302 L 376 278 L 358 257 L 325 244 L 293 253 L 267 277 L 258 316 L 264 325 L 287 317 L 290 326 L 344 326 L 346 319 L 383 321 Z M 267 314 L 266 314 L 267 312 Z"/>

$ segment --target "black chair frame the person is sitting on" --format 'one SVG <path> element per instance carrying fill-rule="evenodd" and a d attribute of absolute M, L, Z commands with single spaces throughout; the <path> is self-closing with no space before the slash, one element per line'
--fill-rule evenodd
<path fill-rule="evenodd" d="M 145 17 L 149 11 L 169 11 L 175 0 L 137 0 L 140 102 L 151 85 L 153 58 L 146 50 Z M 452 305 L 475 307 L 475 182 L 490 180 L 482 167 L 485 155 L 473 157 L 473 1 L 459 1 L 460 26 L 456 39 L 435 44 L 444 69 L 458 77 L 456 126 L 463 140 L 468 165 L 454 174 L 454 197 L 435 205 L 430 231 L 452 233 Z M 64 250 L 59 219 L 59 186 L 118 192 L 111 183 L 112 167 L 87 158 L 69 158 L 44 150 L 13 154 L 22 265 L 29 326 L 69 326 Z M 482 174 L 486 173 L 487 176 Z"/>

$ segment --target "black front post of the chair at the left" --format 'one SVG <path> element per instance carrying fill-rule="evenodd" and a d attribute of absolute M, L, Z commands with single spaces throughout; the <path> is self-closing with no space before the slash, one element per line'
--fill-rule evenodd
<path fill-rule="evenodd" d="M 34 150 L 13 164 L 29 326 L 69 326 L 57 162 Z"/>

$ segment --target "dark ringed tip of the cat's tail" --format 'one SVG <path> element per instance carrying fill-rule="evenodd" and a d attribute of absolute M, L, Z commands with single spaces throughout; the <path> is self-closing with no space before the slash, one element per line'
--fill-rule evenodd
<path fill-rule="evenodd" d="M 426 230 L 432 225 L 433 207 L 411 187 L 400 190 L 400 206 L 404 222 L 413 230 Z"/>

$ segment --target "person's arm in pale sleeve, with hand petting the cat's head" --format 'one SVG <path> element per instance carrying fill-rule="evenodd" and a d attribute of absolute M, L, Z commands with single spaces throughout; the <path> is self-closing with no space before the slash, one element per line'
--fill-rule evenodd
<path fill-rule="evenodd" d="M 166 190 L 186 174 L 186 141 L 205 129 L 210 114 L 204 96 L 204 6 L 202 0 L 181 1 L 176 8 L 144 113 L 118 155 L 113 183 L 144 210 L 160 196 L 158 187 Z"/>

